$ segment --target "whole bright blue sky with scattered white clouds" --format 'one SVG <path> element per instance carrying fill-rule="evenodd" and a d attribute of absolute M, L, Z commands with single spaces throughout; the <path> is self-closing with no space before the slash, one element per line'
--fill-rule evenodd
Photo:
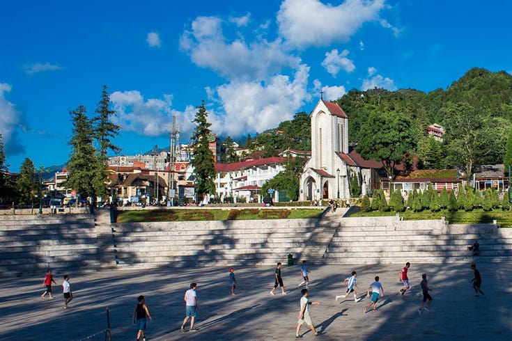
<path fill-rule="evenodd" d="M 109 87 L 123 154 L 183 143 L 195 106 L 235 140 L 311 111 L 320 90 L 430 91 L 472 67 L 512 70 L 512 1 L 4 1 L 7 163 L 68 160 L 69 111 Z"/>

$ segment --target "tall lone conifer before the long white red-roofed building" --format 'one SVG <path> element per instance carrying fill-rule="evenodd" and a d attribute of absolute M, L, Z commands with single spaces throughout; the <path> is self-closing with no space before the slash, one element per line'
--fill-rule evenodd
<path fill-rule="evenodd" d="M 194 148 L 194 159 L 191 164 L 194 166 L 196 193 L 198 200 L 202 200 L 205 194 L 215 191 L 215 166 L 213 164 L 213 154 L 210 150 L 208 138 L 212 134 L 210 130 L 211 123 L 208 122 L 208 111 L 204 100 L 196 113 L 192 122 L 196 123 L 194 134 L 192 135 L 192 147 Z"/>

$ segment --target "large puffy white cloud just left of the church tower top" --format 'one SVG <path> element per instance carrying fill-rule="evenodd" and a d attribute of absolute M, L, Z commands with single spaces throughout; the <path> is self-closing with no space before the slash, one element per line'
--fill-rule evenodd
<path fill-rule="evenodd" d="M 247 132 L 263 132 L 290 120 L 304 102 L 311 98 L 307 92 L 309 67 L 300 65 L 293 79 L 274 76 L 267 83 L 260 81 L 232 81 L 217 87 L 224 108 L 219 126 L 212 129 L 219 134 L 240 136 Z"/>

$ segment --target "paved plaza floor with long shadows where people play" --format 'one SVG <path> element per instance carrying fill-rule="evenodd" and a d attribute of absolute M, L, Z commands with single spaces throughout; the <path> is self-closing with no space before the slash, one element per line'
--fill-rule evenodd
<path fill-rule="evenodd" d="M 403 264 L 310 264 L 310 299 L 321 302 L 310 312 L 323 334 L 315 337 L 302 326 L 303 340 L 511 340 L 512 269 L 509 264 L 476 264 L 485 297 L 474 296 L 470 264 L 411 264 L 412 290 L 405 296 L 398 294 Z M 334 301 L 336 294 L 346 292 L 342 282 L 352 270 L 358 274 L 359 297 L 380 276 L 385 296 L 377 312 L 363 313 L 366 297 L 359 303 L 352 298 Z M 283 268 L 286 296 L 279 288 L 275 296 L 269 294 L 273 273 L 273 267 L 236 268 L 237 295 L 231 296 L 226 267 L 71 272 L 74 300 L 68 310 L 63 309 L 63 273 L 54 274 L 55 299 L 40 298 L 45 273 L 4 277 L 0 340 L 104 340 L 98 332 L 107 328 L 107 306 L 112 340 L 134 340 L 132 310 L 140 294 L 153 316 L 148 340 L 295 340 L 300 267 Z M 419 315 L 421 273 L 428 274 L 434 301 L 430 312 Z M 181 333 L 183 294 L 191 282 L 199 285 L 199 331 Z"/>

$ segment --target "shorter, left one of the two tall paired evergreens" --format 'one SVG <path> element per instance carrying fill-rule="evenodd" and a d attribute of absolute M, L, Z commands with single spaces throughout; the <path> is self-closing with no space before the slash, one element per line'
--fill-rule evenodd
<path fill-rule="evenodd" d="M 72 138 L 70 159 L 68 161 L 69 176 L 66 187 L 75 189 L 82 198 L 95 200 L 95 174 L 98 170 L 98 153 L 94 148 L 93 123 L 86 116 L 83 105 L 70 112 L 72 122 Z M 91 176 L 92 175 L 92 176 Z"/>

